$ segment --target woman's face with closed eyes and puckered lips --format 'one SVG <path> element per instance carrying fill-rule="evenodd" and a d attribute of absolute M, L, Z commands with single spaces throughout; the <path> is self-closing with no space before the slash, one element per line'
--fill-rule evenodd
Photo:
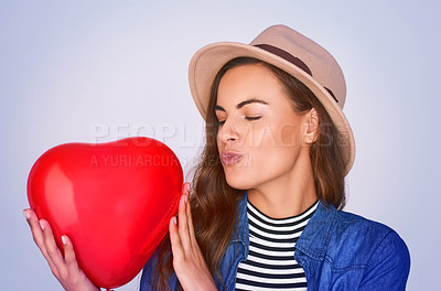
<path fill-rule="evenodd" d="M 232 187 L 288 181 L 310 166 L 310 115 L 294 111 L 269 68 L 250 64 L 228 69 L 218 86 L 215 112 L 219 157 Z"/>

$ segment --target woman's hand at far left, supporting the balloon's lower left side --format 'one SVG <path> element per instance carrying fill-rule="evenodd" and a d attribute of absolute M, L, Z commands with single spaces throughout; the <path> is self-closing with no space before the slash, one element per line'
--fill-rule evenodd
<path fill-rule="evenodd" d="M 36 217 L 32 209 L 24 209 L 24 217 L 31 227 L 33 239 L 51 267 L 52 273 L 66 291 L 99 291 L 79 268 L 74 247 L 67 236 L 63 236 L 64 257 L 55 244 L 50 224 Z"/>

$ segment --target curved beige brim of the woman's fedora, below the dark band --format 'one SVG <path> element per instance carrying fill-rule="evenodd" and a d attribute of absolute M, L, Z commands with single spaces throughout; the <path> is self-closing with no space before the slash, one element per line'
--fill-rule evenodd
<path fill-rule="evenodd" d="M 206 108 L 208 107 L 211 87 L 216 74 L 228 61 L 240 56 L 256 57 L 275 65 L 294 76 L 310 88 L 323 105 L 334 126 L 338 130 L 338 142 L 344 143 L 341 146 L 345 149 L 344 153 L 347 161 L 347 174 L 352 169 L 355 159 L 355 141 L 351 126 L 342 109 L 338 107 L 331 94 L 311 75 L 284 58 L 259 47 L 235 42 L 218 42 L 208 44 L 194 54 L 190 62 L 189 82 L 194 103 L 196 104 L 202 117 L 206 119 Z"/>

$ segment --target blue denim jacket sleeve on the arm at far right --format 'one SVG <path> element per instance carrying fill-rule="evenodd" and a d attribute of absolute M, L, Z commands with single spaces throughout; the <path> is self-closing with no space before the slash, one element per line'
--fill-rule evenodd
<path fill-rule="evenodd" d="M 410 255 L 405 241 L 391 230 L 374 251 L 358 290 L 406 290 Z"/>

